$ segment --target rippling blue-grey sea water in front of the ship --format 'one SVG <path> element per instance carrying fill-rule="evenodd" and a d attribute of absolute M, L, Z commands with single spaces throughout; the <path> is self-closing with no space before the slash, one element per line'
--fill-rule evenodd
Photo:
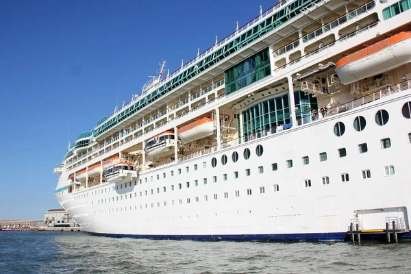
<path fill-rule="evenodd" d="M 199 242 L 0 233 L 1 273 L 411 273 L 410 243 Z"/>

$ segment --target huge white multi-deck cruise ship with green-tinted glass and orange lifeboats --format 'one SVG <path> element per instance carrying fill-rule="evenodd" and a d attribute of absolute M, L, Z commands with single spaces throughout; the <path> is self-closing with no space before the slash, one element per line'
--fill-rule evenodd
<path fill-rule="evenodd" d="M 411 238 L 411 0 L 284 0 L 256 15 L 173 73 L 160 62 L 69 146 L 54 195 L 84 231 Z"/>

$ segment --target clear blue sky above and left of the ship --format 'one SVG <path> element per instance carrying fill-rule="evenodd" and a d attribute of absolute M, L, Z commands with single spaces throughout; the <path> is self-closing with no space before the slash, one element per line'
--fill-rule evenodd
<path fill-rule="evenodd" d="M 274 5 L 259 1 L 3 1 L 0 219 L 42 219 L 70 140 Z"/>

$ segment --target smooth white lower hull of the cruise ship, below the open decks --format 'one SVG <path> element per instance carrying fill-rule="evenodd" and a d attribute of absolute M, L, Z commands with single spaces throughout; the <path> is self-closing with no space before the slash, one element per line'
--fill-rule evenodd
<path fill-rule="evenodd" d="M 381 210 L 377 214 L 380 216 L 370 219 L 377 220 L 378 224 L 370 221 L 369 227 L 384 225 L 385 216 L 410 219 L 408 211 L 401 211 L 404 207 L 411 208 L 410 163 L 401 156 L 411 153 L 407 140 L 410 121 L 401 116 L 401 107 L 407 101 L 411 101 L 411 90 L 369 103 L 349 115 L 338 114 L 315 125 L 289 129 L 234 149 L 210 153 L 184 162 L 184 165 L 173 164 L 155 172 L 142 173 L 142 184 L 132 181 L 131 186 L 128 183 L 127 188 L 118 189 L 116 184 L 103 184 L 74 195 L 86 197 L 83 199 L 73 199 L 67 192 L 57 198 L 84 230 L 93 234 L 214 240 L 343 240 L 347 237 L 350 221 L 355 219 L 356 210 L 398 209 L 388 213 Z M 375 112 L 382 108 L 390 113 L 390 122 L 384 127 L 373 123 Z M 369 121 L 363 132 L 356 132 L 351 126 L 358 115 Z M 336 139 L 332 131 L 338 121 L 347 125 L 347 132 L 340 139 Z M 387 136 L 393 146 L 382 150 L 379 140 Z M 369 152 L 358 153 L 358 144 L 362 142 L 368 142 Z M 264 147 L 261 157 L 256 155 L 257 145 Z M 346 158 L 338 158 L 340 147 L 347 148 Z M 249 160 L 242 157 L 245 148 L 251 150 Z M 231 159 L 233 151 L 240 154 L 238 162 L 229 160 L 223 166 L 219 161 L 212 168 L 213 157 L 221 159 L 225 154 Z M 325 162 L 319 161 L 322 151 L 328 153 Z M 304 155 L 310 155 L 308 166 L 301 164 Z M 286 160 L 294 161 L 291 169 L 286 169 Z M 199 167 L 197 171 L 159 182 L 144 182 L 145 177 L 169 175 L 179 167 L 203 166 L 203 162 L 207 163 L 206 169 Z M 272 163 L 277 163 L 277 171 L 272 171 Z M 387 165 L 395 166 L 395 176 L 384 176 L 383 167 Z M 264 167 L 264 173 L 258 173 L 258 166 Z M 251 170 L 249 177 L 245 176 L 245 169 Z M 361 179 L 360 173 L 364 169 L 372 171 L 372 179 Z M 239 173 L 238 179 L 233 178 L 235 171 Z M 340 182 L 341 173 L 349 173 L 349 182 Z M 223 182 L 223 174 L 228 175 L 226 182 Z M 329 176 L 330 183 L 323 186 L 321 177 L 325 175 Z M 66 176 L 63 173 L 60 181 L 66 180 Z M 212 182 L 213 176 L 217 177 L 216 183 Z M 203 184 L 203 178 L 208 178 L 207 185 Z M 308 178 L 312 180 L 311 188 L 303 186 L 303 180 Z M 198 186 L 195 186 L 195 179 Z M 177 187 L 180 182 L 190 182 L 190 188 L 183 186 L 182 190 L 171 191 L 171 185 Z M 274 184 L 279 185 L 278 192 L 273 192 Z M 166 186 L 167 192 L 150 195 L 150 190 L 158 186 Z M 264 195 L 260 194 L 260 187 L 264 187 Z M 247 196 L 247 189 L 252 190 L 252 195 Z M 236 190 L 240 191 L 240 197 L 234 197 Z M 145 195 L 145 191 L 149 194 Z M 224 192 L 229 194 L 229 199 L 224 199 Z M 218 194 L 217 200 L 214 200 L 214 194 Z M 208 195 L 208 201 L 203 200 L 204 195 Z M 105 202 L 111 197 L 121 198 Z M 199 202 L 195 197 L 199 197 Z M 188 198 L 190 203 L 187 203 Z M 182 205 L 179 205 L 179 199 L 182 199 Z M 172 200 L 175 205 L 171 204 Z"/>

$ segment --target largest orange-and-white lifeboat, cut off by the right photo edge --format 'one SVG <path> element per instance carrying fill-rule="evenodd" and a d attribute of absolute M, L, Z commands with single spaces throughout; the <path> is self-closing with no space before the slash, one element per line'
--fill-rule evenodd
<path fill-rule="evenodd" d="M 411 61 L 411 32 L 400 32 L 336 63 L 340 82 L 347 85 L 390 71 Z"/>

